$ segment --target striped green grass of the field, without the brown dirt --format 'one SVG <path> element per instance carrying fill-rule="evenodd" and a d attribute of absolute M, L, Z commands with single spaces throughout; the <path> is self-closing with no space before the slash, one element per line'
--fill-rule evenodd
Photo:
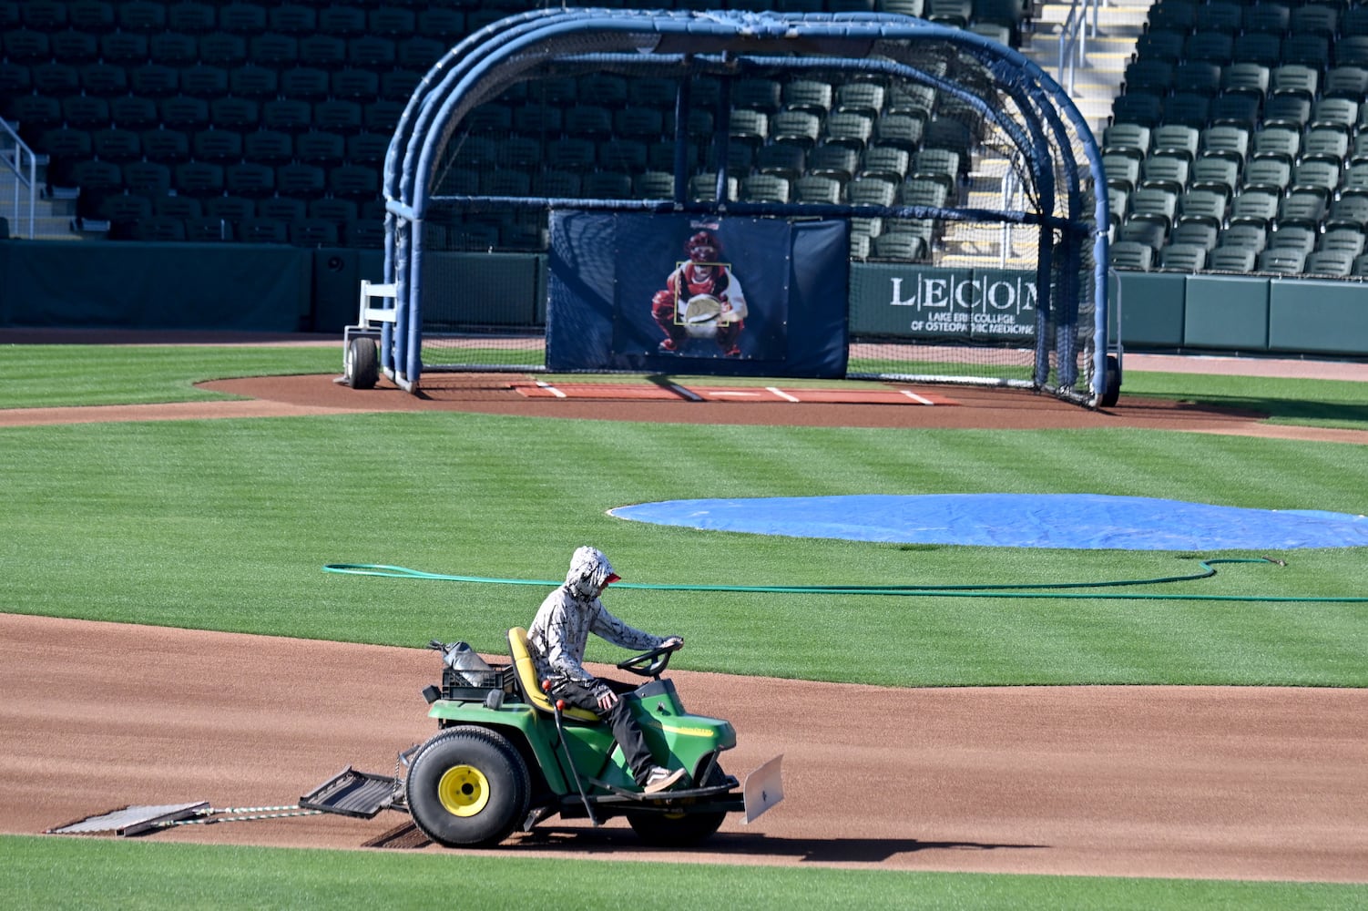
<path fill-rule="evenodd" d="M 0 384 L 0 408 L 212 398 L 192 382 L 328 373 L 341 360 L 332 347 L 3 350 L 12 379 Z M 1368 428 L 1368 393 L 1354 383 L 1130 372 L 1126 393 L 1146 391 Z M 628 580 L 643 583 L 1100 581 L 1194 572 L 1200 557 L 1261 554 L 761 538 L 624 523 L 605 510 L 694 497 L 1099 492 L 1368 513 L 1363 446 L 1129 430 L 710 427 L 436 412 L 155 421 L 3 428 L 0 471 L 7 610 L 410 647 L 465 639 L 486 651 L 502 648 L 509 625 L 531 620 L 542 588 L 339 576 L 321 566 L 558 579 L 570 550 L 594 543 Z M 676 663 L 696 670 L 888 685 L 1368 685 L 1365 605 L 1182 598 L 1368 595 L 1368 561 L 1358 550 L 1270 555 L 1287 565 L 1220 566 L 1215 579 L 1142 587 L 1137 594 L 1150 598 L 1134 600 L 616 590 L 610 605 L 636 625 L 684 635 L 689 648 Z M 590 658 L 610 654 L 591 650 Z M 378 897 L 402 907 L 430 904 L 416 896 L 431 897 L 434 884 L 456 884 L 468 870 L 487 896 L 480 904 L 508 907 L 538 874 L 553 884 L 569 875 L 558 862 L 497 855 L 456 862 L 55 839 L 5 839 L 0 849 L 0 888 L 26 896 L 21 904 L 29 907 L 289 907 Z M 88 901 L 62 900 L 41 884 L 51 875 L 41 871 L 56 869 L 64 880 L 119 877 L 123 885 L 85 893 Z M 415 877 L 420 885 L 405 892 Z M 575 897 L 558 907 L 677 896 L 680 881 L 691 888 L 670 907 L 777 907 L 800 896 L 832 896 L 830 907 L 910 907 L 915 896 L 925 907 L 1368 900 L 1368 888 L 1357 886 L 668 864 L 577 880 L 587 881 L 575 892 L 587 896 L 584 904 Z M 129 897 L 137 882 L 146 892 Z M 547 900 L 531 907 L 550 903 L 550 893 L 539 895 Z"/>

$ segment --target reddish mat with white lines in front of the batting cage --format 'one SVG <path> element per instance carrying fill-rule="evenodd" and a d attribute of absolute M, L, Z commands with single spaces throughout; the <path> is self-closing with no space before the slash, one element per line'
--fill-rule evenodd
<path fill-rule="evenodd" d="M 958 405 L 937 393 L 911 388 L 841 388 L 778 386 L 680 386 L 679 383 L 547 383 L 544 380 L 512 384 L 528 398 L 610 398 L 659 399 L 688 402 L 795 402 L 800 405 Z"/>

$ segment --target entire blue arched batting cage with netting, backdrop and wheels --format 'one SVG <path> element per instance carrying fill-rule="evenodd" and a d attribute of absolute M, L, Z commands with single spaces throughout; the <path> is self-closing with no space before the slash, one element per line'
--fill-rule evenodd
<path fill-rule="evenodd" d="M 1115 401 L 1107 194 L 1021 53 L 892 14 L 539 10 L 384 163 L 347 372 L 860 378 Z"/>

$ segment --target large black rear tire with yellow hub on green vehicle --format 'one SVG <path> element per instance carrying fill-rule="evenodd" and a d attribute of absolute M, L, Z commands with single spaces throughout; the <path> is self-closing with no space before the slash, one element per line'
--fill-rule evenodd
<path fill-rule="evenodd" d="M 413 823 L 449 848 L 497 845 L 527 817 L 532 784 L 508 739 L 486 728 L 439 733 L 413 758 Z"/>

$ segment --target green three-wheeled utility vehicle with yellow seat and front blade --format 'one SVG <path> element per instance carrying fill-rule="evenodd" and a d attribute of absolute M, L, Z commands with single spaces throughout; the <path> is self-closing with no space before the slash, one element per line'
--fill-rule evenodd
<path fill-rule="evenodd" d="M 365 803 L 363 792 L 393 785 L 380 806 L 353 815 L 406 808 L 424 834 L 447 847 L 495 845 L 555 815 L 588 818 L 595 826 L 625 817 L 647 843 L 683 847 L 717 832 L 728 813 L 743 813 L 751 822 L 784 797 L 782 756 L 752 771 L 744 785 L 722 770 L 720 758 L 736 745 L 736 730 L 721 718 L 684 710 L 674 683 L 662 677 L 668 648 L 617 665 L 644 678 L 624 698 L 657 763 L 687 773 L 679 787 L 647 795 L 611 729 L 592 713 L 553 702 L 538 685 L 525 629 L 509 631 L 508 666 L 484 663 L 464 643 L 432 647 L 445 657 L 442 685 L 423 695 L 438 733 L 401 754 L 401 765 L 408 765 L 404 784 L 399 776 L 347 769 L 301 806 L 349 813 L 349 803 Z"/>

